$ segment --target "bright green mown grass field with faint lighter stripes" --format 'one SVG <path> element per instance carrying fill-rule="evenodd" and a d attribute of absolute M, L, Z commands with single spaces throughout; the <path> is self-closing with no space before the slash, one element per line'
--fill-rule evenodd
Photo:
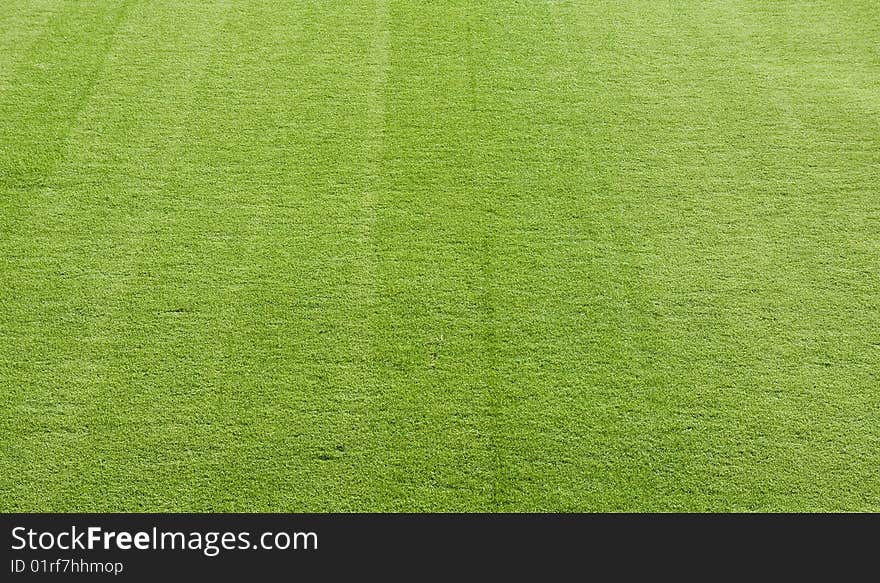
<path fill-rule="evenodd" d="M 880 5 L 0 2 L 0 511 L 880 511 Z"/>

